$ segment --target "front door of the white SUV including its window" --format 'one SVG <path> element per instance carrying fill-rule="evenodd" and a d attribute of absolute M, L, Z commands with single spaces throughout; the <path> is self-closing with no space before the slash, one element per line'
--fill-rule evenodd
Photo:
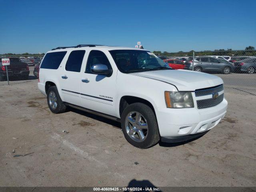
<path fill-rule="evenodd" d="M 114 98 L 116 95 L 116 73 L 111 76 L 94 74 L 91 67 L 95 64 L 104 64 L 112 69 L 104 52 L 91 50 L 87 59 L 85 72 L 80 79 L 81 101 L 84 108 L 116 116 Z"/>

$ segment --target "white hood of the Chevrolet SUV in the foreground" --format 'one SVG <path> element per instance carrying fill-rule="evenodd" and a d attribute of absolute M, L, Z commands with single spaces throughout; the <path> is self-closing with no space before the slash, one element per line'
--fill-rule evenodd
<path fill-rule="evenodd" d="M 223 84 L 223 80 L 215 75 L 188 70 L 157 70 L 130 75 L 163 81 L 176 86 L 178 91 L 195 91 Z"/>

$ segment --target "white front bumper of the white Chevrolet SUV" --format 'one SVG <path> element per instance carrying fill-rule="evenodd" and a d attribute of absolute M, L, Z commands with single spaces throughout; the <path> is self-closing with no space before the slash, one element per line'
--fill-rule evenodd
<path fill-rule="evenodd" d="M 158 109 L 156 115 L 160 136 L 173 138 L 206 132 L 224 118 L 227 106 L 228 102 L 224 99 L 220 104 L 205 109 Z"/>

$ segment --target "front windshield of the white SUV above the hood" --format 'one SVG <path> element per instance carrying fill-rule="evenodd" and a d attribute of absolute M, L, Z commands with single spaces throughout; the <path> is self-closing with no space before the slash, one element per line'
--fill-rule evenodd
<path fill-rule="evenodd" d="M 111 50 L 109 51 L 116 66 L 123 73 L 172 69 L 155 54 L 144 50 Z"/>

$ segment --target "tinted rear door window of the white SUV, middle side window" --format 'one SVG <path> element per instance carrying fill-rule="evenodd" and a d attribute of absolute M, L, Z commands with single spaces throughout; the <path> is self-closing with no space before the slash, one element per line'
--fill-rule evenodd
<path fill-rule="evenodd" d="M 65 69 L 67 71 L 80 72 L 85 50 L 72 51 L 68 56 Z"/>

